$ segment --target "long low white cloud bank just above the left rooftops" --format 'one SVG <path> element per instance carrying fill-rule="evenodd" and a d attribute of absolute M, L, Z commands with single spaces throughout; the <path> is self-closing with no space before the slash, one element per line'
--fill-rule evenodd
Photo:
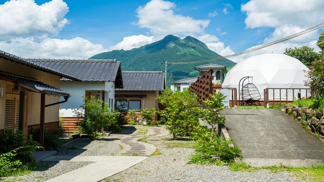
<path fill-rule="evenodd" d="M 91 43 L 81 37 L 73 39 L 46 38 L 41 42 L 31 38 L 14 38 L 1 41 L 0 50 L 25 58 L 78 58 L 88 59 L 107 52 L 102 45 Z"/>

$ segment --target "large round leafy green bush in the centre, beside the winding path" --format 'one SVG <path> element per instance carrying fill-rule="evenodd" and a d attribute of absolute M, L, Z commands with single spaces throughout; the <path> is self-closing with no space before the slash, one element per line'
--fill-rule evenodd
<path fill-rule="evenodd" d="M 198 126 L 199 108 L 197 105 L 197 95 L 186 91 L 173 92 L 166 89 L 157 99 L 165 104 L 165 110 L 160 112 L 166 119 L 164 125 L 172 133 L 173 138 L 189 136 L 194 126 Z"/>

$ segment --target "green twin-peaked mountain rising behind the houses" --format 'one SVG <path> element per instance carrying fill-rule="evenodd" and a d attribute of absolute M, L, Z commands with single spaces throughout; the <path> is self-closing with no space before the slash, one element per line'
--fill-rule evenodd
<path fill-rule="evenodd" d="M 162 40 L 134 48 L 128 51 L 114 50 L 92 56 L 89 59 L 116 59 L 121 62 L 122 71 L 163 71 L 165 70 L 165 61 L 167 63 L 200 61 L 221 57 L 216 52 L 210 50 L 206 44 L 188 36 L 181 39 L 174 35 L 168 35 Z M 168 77 L 174 76 L 174 81 L 189 77 L 198 76 L 195 66 L 209 64 L 204 62 L 199 64 L 168 64 Z M 236 63 L 222 59 L 213 61 L 217 65 L 228 67 Z"/>

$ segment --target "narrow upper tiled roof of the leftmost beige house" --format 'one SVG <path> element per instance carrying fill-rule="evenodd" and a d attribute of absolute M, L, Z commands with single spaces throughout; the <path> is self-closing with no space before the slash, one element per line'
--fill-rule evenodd
<path fill-rule="evenodd" d="M 18 63 L 20 65 L 27 66 L 27 67 L 30 67 L 30 68 L 34 68 L 36 70 L 40 70 L 40 71 L 43 71 L 43 72 L 46 72 L 46 73 L 50 73 L 50 74 L 57 75 L 57 76 L 60 76 L 60 77 L 65 77 L 65 78 L 68 78 L 68 79 L 71 79 L 71 80 L 74 80 L 74 81 L 80 81 L 79 79 L 77 79 L 77 78 L 73 77 L 72 75 L 69 75 L 69 74 L 67 74 L 65 72 L 60 72 L 58 70 L 48 68 L 48 67 L 46 67 L 46 66 L 44 66 L 42 64 L 35 63 L 35 62 L 30 61 L 30 60 L 23 59 L 23 58 L 20 58 L 18 56 L 15 56 L 15 55 L 3 52 L 3 51 L 0 51 L 0 58 L 2 58 L 4 60 L 7 60 L 7 61 L 14 62 L 14 63 Z"/>

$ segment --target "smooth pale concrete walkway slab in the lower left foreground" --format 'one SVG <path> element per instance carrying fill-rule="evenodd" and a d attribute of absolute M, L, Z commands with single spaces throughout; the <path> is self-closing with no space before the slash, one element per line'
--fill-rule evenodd
<path fill-rule="evenodd" d="M 98 182 L 145 160 L 143 156 L 76 156 L 70 161 L 95 162 L 47 182 Z"/>

